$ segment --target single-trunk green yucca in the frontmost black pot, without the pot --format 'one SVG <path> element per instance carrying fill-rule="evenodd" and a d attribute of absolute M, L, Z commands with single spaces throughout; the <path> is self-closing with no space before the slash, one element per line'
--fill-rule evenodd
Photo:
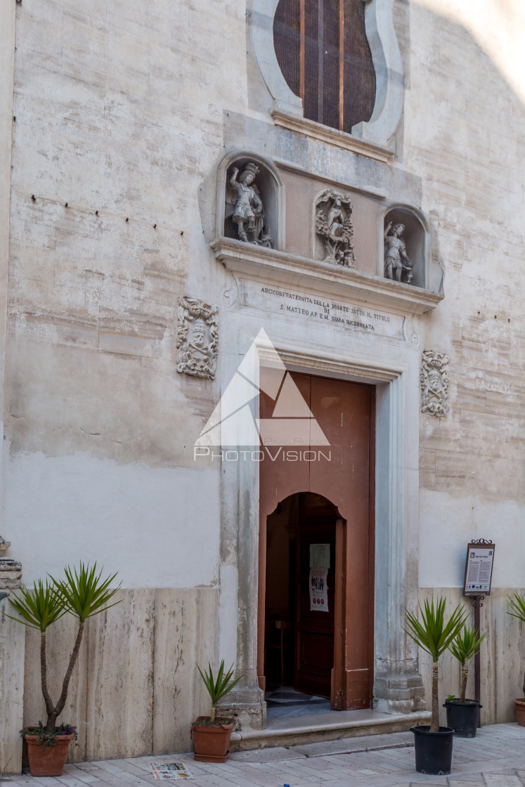
<path fill-rule="evenodd" d="M 430 731 L 431 733 L 438 733 L 438 660 L 439 656 L 449 647 L 454 637 L 457 637 L 467 613 L 464 611 L 464 607 L 458 604 L 452 615 L 450 615 L 448 623 L 445 623 L 445 597 L 439 598 L 437 604 L 434 604 L 434 599 L 432 599 L 431 603 L 425 600 L 423 607 L 421 604 L 419 607 L 420 619 L 417 619 L 416 615 L 412 615 L 412 612 L 405 608 L 407 628 L 403 627 L 403 630 L 416 642 L 416 645 L 430 653 L 432 657 L 432 720 Z"/>

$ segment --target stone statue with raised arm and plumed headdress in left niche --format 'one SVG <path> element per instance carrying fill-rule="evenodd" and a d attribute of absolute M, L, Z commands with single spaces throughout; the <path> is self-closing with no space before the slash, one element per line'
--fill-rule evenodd
<path fill-rule="evenodd" d="M 233 169 L 231 178 L 226 184 L 226 209 L 224 216 L 231 216 L 237 225 L 239 240 L 245 243 L 256 243 L 257 246 L 272 246 L 272 238 L 268 227 L 264 226 L 264 205 L 255 179 L 259 168 L 253 161 L 238 175 L 238 168 Z"/>

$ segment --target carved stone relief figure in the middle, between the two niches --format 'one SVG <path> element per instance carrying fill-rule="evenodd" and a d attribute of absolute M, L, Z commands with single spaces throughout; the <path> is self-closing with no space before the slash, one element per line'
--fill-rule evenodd
<path fill-rule="evenodd" d="M 324 261 L 355 268 L 352 203 L 348 195 L 327 189 L 316 201 L 316 235 L 323 245 Z"/>

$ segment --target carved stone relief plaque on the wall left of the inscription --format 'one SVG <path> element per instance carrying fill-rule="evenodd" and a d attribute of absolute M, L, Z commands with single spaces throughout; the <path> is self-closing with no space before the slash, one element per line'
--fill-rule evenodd
<path fill-rule="evenodd" d="M 177 371 L 213 379 L 217 360 L 217 307 L 179 297 Z"/>

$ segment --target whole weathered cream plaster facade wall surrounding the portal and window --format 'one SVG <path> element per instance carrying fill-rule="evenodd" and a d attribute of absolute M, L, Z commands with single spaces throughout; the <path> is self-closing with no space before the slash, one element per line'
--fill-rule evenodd
<path fill-rule="evenodd" d="M 177 297 L 218 302 L 219 325 L 227 319 L 226 279 L 208 241 L 214 171 L 234 146 L 420 201 L 431 216 L 446 299 L 421 321 L 420 348 L 449 353 L 451 413 L 420 416 L 420 586 L 457 593 L 468 539 L 494 538 L 490 646 L 499 648 L 494 659 L 517 650 L 517 624 L 502 604 L 525 564 L 525 90 L 523 69 L 508 67 L 515 48 L 506 47 L 505 14 L 514 42 L 523 40 L 523 13 L 485 0 L 490 38 L 474 0 L 395 6 L 407 73 L 391 166 L 274 127 L 256 100 L 264 89 L 246 53 L 241 0 L 16 6 L 2 534 L 28 582 L 82 557 L 118 570 L 126 588 L 107 630 L 103 618 L 90 623 L 71 708 L 86 733 L 74 756 L 186 748 L 191 697 L 200 696 L 194 661 L 218 655 L 217 608 L 220 655 L 236 656 L 238 530 L 221 521 L 218 464 L 195 468 L 192 453 L 228 380 L 175 371 Z M 350 343 L 377 356 L 368 338 Z M 409 397 L 416 401 L 415 389 Z M 418 468 L 407 472 L 416 485 Z M 222 505 L 243 515 L 250 501 Z M 168 611 L 178 615 L 181 604 L 189 604 L 187 628 L 175 632 Z M 119 635 L 109 637 L 112 621 Z M 31 637 L 28 720 L 39 711 Z M 245 645 L 253 655 L 253 641 Z M 186 655 L 174 677 L 176 648 Z M 167 696 L 160 715 L 156 685 Z M 104 740 L 94 726 L 101 708 Z M 494 708 L 490 718 L 507 718 L 506 693 Z"/>

